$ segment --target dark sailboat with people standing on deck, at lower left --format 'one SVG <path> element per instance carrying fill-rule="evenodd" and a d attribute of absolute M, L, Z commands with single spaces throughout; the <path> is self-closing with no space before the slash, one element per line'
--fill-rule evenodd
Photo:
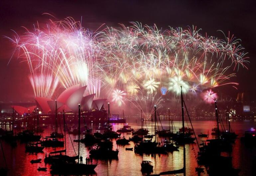
<path fill-rule="evenodd" d="M 63 111 L 64 114 L 64 111 Z M 65 124 L 64 124 L 65 126 Z M 65 129 L 65 128 L 64 128 Z M 78 134 L 80 134 L 80 104 L 78 104 Z M 78 135 L 78 141 L 80 141 L 80 135 Z M 65 145 L 66 148 L 66 145 Z M 61 161 L 52 163 L 51 173 L 63 173 L 63 174 L 86 174 L 94 172 L 97 164 L 83 164 L 79 163 L 79 154 L 80 154 L 80 143 L 78 142 L 78 161 Z M 66 156 L 66 152 L 65 152 Z"/>

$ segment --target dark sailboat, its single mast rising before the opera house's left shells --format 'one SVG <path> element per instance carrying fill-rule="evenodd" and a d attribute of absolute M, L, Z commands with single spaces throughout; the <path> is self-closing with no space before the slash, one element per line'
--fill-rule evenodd
<path fill-rule="evenodd" d="M 55 121 L 56 121 L 56 126 L 55 126 L 55 134 L 58 134 L 58 126 L 57 126 L 57 100 L 55 100 Z M 41 142 L 42 146 L 45 147 L 64 147 L 64 141 L 59 141 L 58 140 L 58 135 L 55 135 L 55 138 L 50 139 L 50 138 L 44 138 L 45 140 Z"/>

